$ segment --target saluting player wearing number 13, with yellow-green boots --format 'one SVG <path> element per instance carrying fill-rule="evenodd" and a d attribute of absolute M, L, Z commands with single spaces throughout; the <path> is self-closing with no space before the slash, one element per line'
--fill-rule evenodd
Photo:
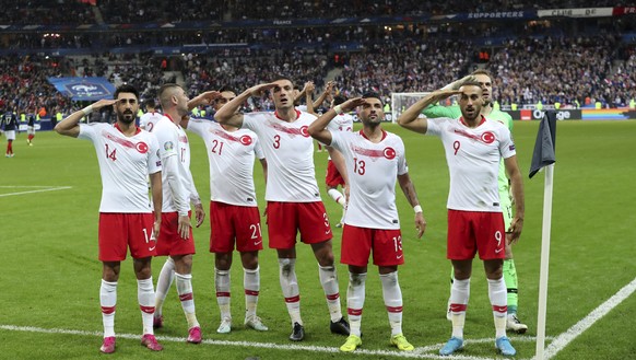
<path fill-rule="evenodd" d="M 360 108 L 362 130 L 341 131 L 329 126 L 339 114 L 356 107 Z M 396 179 L 415 211 L 419 237 L 424 234 L 426 221 L 409 177 L 404 143 L 394 133 L 382 129 L 380 123 L 384 118 L 382 102 L 377 94 L 369 93 L 335 105 L 309 126 L 311 137 L 342 153 L 350 181 L 340 260 L 349 265 L 346 309 L 351 335 L 340 347 L 342 351 L 353 351 L 362 345 L 362 310 L 372 252 L 389 314 L 390 344 L 404 351 L 414 349 L 402 334 L 402 291 L 398 282 L 398 265 L 404 264 L 404 254 L 396 207 Z"/>

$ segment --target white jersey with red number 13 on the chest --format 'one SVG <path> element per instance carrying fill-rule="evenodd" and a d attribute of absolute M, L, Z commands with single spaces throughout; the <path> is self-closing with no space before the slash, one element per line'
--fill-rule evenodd
<path fill-rule="evenodd" d="M 349 175 L 344 223 L 367 229 L 400 229 L 396 181 L 409 171 L 402 139 L 384 130 L 378 143 L 370 142 L 362 130 L 330 132 L 331 147 L 342 152 Z"/>

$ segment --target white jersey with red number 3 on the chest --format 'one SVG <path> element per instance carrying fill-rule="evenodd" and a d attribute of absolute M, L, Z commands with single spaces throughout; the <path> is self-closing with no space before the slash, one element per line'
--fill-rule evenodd
<path fill-rule="evenodd" d="M 249 113 L 243 127 L 258 135 L 268 160 L 268 201 L 320 201 L 314 170 L 314 141 L 307 128 L 316 116 L 296 111 L 296 120 L 287 123 L 275 113 Z"/>

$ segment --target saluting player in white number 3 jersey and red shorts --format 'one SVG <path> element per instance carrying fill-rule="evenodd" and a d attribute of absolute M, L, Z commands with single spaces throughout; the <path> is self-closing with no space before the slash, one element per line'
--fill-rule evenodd
<path fill-rule="evenodd" d="M 275 112 L 237 113 L 250 96 L 272 90 Z M 331 315 L 332 333 L 349 335 L 342 317 L 338 277 L 333 265 L 331 227 L 320 199 L 314 167 L 314 144 L 307 132 L 316 116 L 294 107 L 294 85 L 279 77 L 252 86 L 221 107 L 214 118 L 222 125 L 248 128 L 258 135 L 268 160 L 266 189 L 269 246 L 279 256 L 280 281 L 292 320 L 290 339 L 301 341 L 305 328 L 301 317 L 301 292 L 296 279 L 296 234 L 310 244 L 318 260 L 319 277 Z"/>

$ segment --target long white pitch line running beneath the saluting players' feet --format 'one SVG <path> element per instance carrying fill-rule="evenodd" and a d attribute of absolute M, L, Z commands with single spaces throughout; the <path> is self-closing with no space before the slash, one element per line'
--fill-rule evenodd
<path fill-rule="evenodd" d="M 81 336 L 95 336 L 102 337 L 101 332 L 84 332 L 84 330 L 73 330 L 63 328 L 43 328 L 34 326 L 15 326 L 15 325 L 0 325 L 0 329 L 10 332 L 28 332 L 28 333 L 40 333 L 40 334 L 66 334 L 66 335 L 81 335 Z M 140 335 L 134 334 L 117 334 L 118 338 L 140 339 Z M 158 340 L 169 341 L 169 342 L 185 342 L 184 337 L 172 337 L 172 336 L 157 336 Z M 468 344 L 481 344 L 481 342 L 492 342 L 493 339 L 474 339 L 468 340 Z M 515 341 L 535 341 L 534 337 L 518 337 Z M 326 346 L 308 346 L 308 345 L 280 345 L 273 342 L 252 342 L 252 341 L 228 341 L 228 340 L 211 340 L 204 339 L 202 344 L 215 345 L 215 346 L 238 346 L 238 347 L 251 347 L 261 349 L 274 349 L 274 350 L 287 350 L 287 351 L 314 351 L 314 352 L 326 352 L 326 353 L 340 353 L 337 347 L 326 347 Z M 353 355 L 358 356 L 379 356 L 379 357 L 399 357 L 399 358 L 416 358 L 416 359 L 447 359 L 447 360 L 490 360 L 492 358 L 479 358 L 463 355 L 455 355 L 450 357 L 441 357 L 437 353 L 422 353 L 424 351 L 435 351 L 437 352 L 444 344 L 436 344 L 426 347 L 415 348 L 413 352 L 398 352 L 389 350 L 367 350 L 367 349 L 356 349 Z M 493 349 L 494 351 L 494 349 Z"/>

